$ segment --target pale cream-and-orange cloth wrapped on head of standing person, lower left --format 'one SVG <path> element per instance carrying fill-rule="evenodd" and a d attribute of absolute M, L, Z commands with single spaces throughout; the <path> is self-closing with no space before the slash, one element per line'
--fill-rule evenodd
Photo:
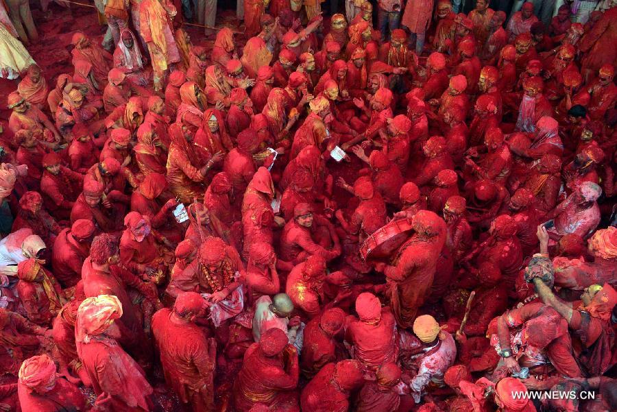
<path fill-rule="evenodd" d="M 90 338 L 105 332 L 115 319 L 122 317 L 122 304 L 114 295 L 86 298 L 77 309 L 75 339 L 88 343 Z"/>

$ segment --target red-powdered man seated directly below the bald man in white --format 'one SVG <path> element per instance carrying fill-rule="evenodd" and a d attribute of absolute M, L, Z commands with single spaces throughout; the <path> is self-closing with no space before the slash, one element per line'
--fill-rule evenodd
<path fill-rule="evenodd" d="M 253 343 L 245 355 L 242 369 L 234 381 L 233 404 L 237 411 L 250 411 L 256 402 L 281 412 L 299 412 L 298 352 L 285 332 L 268 329 L 259 343 Z"/>

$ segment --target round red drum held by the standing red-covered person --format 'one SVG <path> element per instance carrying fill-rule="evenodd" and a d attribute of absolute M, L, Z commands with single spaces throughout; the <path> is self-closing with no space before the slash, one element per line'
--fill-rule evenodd
<path fill-rule="evenodd" d="M 364 260 L 387 258 L 400 245 L 409 239 L 411 221 L 393 220 L 371 234 L 360 246 L 360 256 Z"/>

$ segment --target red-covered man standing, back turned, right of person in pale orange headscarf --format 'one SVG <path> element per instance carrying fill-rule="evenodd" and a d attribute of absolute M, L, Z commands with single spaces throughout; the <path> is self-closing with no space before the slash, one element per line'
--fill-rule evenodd
<path fill-rule="evenodd" d="M 180 402 L 194 412 L 213 411 L 216 346 L 195 319 L 206 311 L 199 293 L 182 292 L 173 308 L 162 308 L 152 317 L 152 333 L 160 352 L 165 382 Z"/>

